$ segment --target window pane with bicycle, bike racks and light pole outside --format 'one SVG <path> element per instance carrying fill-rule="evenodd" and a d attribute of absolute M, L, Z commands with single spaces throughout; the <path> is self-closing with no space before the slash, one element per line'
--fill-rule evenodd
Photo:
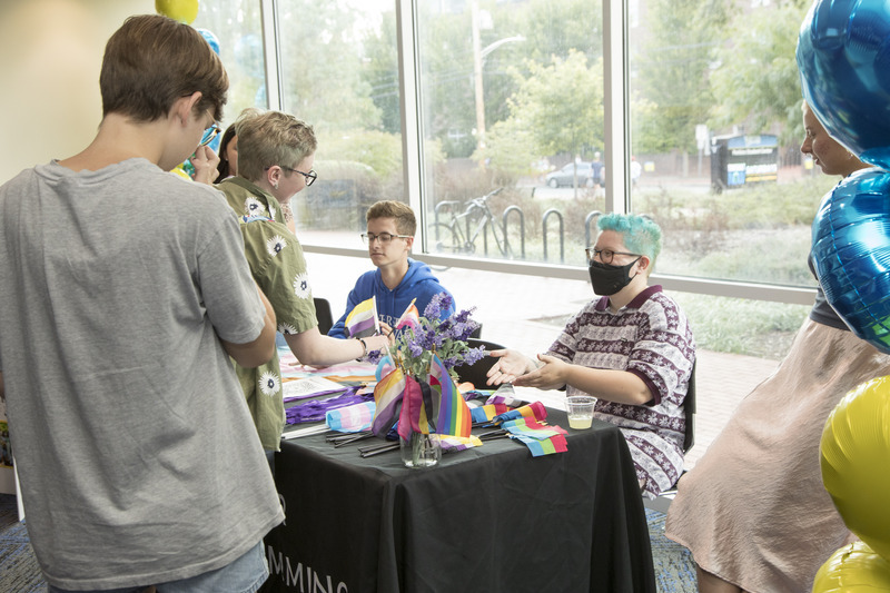
<path fill-rule="evenodd" d="M 417 4 L 429 251 L 581 265 L 604 196 L 601 3 Z"/>

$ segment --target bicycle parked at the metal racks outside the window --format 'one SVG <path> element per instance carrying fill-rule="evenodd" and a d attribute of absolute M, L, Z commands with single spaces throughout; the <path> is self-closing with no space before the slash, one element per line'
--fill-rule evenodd
<path fill-rule="evenodd" d="M 497 221 L 488 207 L 488 200 L 504 189 L 498 187 L 485 196 L 473 198 L 463 213 L 452 214 L 447 223 L 433 223 L 429 226 L 429 236 L 433 238 L 432 251 L 438 254 L 473 254 L 476 251 L 476 239 L 482 235 L 484 254 L 488 255 L 488 229 L 502 256 L 513 257 L 507 243 L 506 228 Z M 458 206 L 459 201 L 442 201 L 436 206 L 441 208 Z"/>

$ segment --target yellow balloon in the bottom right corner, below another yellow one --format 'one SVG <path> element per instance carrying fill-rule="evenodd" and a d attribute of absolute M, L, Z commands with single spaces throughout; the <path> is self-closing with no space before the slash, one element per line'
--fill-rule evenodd
<path fill-rule="evenodd" d="M 815 573 L 812 593 L 876 593 L 890 591 L 890 562 L 864 542 L 834 552 Z"/>

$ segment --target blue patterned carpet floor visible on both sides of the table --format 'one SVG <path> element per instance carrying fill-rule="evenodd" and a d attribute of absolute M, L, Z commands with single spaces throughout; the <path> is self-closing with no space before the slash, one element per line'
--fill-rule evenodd
<path fill-rule="evenodd" d="M 695 593 L 695 566 L 689 551 L 664 536 L 665 514 L 646 508 L 659 593 Z M 18 521 L 16 497 L 0 494 L 0 593 L 43 593 L 28 532 Z"/>

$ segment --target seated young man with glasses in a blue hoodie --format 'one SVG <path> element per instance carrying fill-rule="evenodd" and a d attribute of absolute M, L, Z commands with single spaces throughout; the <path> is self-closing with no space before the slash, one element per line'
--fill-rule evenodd
<path fill-rule="evenodd" d="M 433 276 L 429 266 L 408 257 L 417 229 L 417 220 L 411 206 L 393 200 L 377 201 L 368 208 L 365 218 L 368 230 L 362 234 L 362 238 L 367 244 L 368 255 L 377 269 L 358 277 L 355 288 L 346 299 L 346 312 L 327 333 L 328 336 L 348 337 L 346 316 L 356 305 L 374 295 L 377 296 L 379 320 L 388 326 L 386 330 L 395 327 L 412 299 L 417 299 L 414 305 L 423 315 L 433 295 L 447 293 L 451 296 L 438 283 L 438 278 Z M 442 310 L 442 318 L 454 312 L 452 297 L 452 307 Z"/>

